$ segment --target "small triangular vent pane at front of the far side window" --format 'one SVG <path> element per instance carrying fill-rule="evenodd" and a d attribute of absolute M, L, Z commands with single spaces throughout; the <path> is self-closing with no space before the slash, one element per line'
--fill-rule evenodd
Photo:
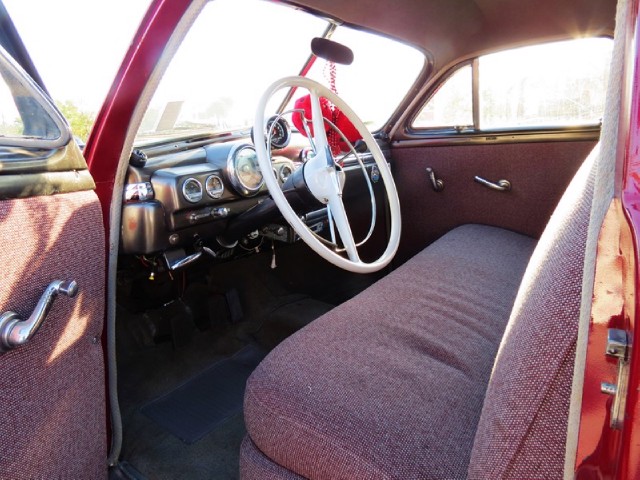
<path fill-rule="evenodd" d="M 436 91 L 414 120 L 416 128 L 473 125 L 471 65 L 459 68 Z"/>

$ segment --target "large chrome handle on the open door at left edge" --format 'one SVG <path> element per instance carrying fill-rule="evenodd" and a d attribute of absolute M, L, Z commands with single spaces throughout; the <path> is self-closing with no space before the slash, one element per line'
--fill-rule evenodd
<path fill-rule="evenodd" d="M 75 297 L 77 293 L 78 284 L 74 280 L 54 280 L 45 289 L 33 313 L 26 320 L 22 320 L 15 312 L 0 315 L 0 354 L 24 345 L 36 334 L 58 294 Z"/>

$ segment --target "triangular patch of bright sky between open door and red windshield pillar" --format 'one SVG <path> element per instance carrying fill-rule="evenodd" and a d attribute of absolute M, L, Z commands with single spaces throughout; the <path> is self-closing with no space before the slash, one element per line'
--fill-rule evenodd
<path fill-rule="evenodd" d="M 74 136 L 86 141 L 151 0 L 0 2 Z"/>

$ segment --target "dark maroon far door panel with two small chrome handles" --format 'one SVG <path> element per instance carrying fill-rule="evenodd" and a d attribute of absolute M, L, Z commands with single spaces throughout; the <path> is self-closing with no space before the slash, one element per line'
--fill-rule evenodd
<path fill-rule="evenodd" d="M 480 223 L 539 237 L 594 141 L 418 146 L 392 150 L 402 208 L 398 263 L 446 232 Z M 435 192 L 425 169 L 444 182 Z M 474 181 L 479 175 L 511 182 L 498 192 Z"/>

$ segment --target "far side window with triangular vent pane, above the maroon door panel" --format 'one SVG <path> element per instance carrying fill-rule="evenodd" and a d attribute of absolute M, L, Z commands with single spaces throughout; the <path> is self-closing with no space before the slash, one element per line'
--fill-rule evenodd
<path fill-rule="evenodd" d="M 412 127 L 508 130 L 597 125 L 604 111 L 612 46 L 611 39 L 590 38 L 479 57 L 445 81 Z M 460 77 L 468 80 L 463 83 Z"/>

